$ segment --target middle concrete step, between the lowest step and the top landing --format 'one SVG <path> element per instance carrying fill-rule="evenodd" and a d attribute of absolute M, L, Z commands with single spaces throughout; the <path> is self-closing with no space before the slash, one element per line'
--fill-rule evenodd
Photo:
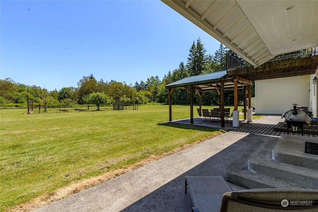
<path fill-rule="evenodd" d="M 287 136 L 290 135 L 286 135 L 286 137 Z M 304 138 L 300 136 L 297 136 L 297 139 L 304 140 Z M 290 139 L 288 140 L 291 141 Z M 275 161 L 272 159 L 272 150 L 274 149 L 276 143 L 277 142 L 273 142 L 271 140 L 265 141 L 264 144 L 248 159 L 248 169 L 252 172 L 295 183 L 305 188 L 317 189 L 317 169 L 306 168 L 290 163 Z M 297 146 L 293 147 L 299 149 Z M 281 151 L 281 153 L 283 153 L 283 151 Z M 289 156 L 289 162 L 291 163 L 292 161 L 300 161 L 300 155 L 295 154 L 294 159 L 292 159 L 294 157 L 292 154 L 290 154 Z"/>

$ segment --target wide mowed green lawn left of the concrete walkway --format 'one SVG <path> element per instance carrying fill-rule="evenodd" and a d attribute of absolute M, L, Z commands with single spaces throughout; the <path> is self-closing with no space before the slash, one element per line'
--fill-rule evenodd
<path fill-rule="evenodd" d="M 0 110 L 0 211 L 219 132 L 162 124 L 168 121 L 167 105 L 26 112 Z M 173 105 L 172 118 L 189 118 L 189 106 Z"/>

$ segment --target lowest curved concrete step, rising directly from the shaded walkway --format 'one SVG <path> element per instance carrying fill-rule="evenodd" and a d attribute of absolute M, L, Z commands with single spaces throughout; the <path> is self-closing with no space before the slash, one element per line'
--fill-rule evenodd
<path fill-rule="evenodd" d="M 271 137 L 263 143 L 271 143 L 275 146 L 279 138 Z M 292 189 L 304 189 L 306 186 L 302 186 L 296 183 L 292 183 L 286 180 L 277 179 L 270 176 L 270 174 L 259 174 L 248 169 L 248 159 L 260 148 L 262 143 L 255 142 L 248 150 L 233 161 L 225 170 L 225 179 L 231 183 L 239 185 L 247 189 L 255 188 L 292 188 Z M 263 159 L 261 159 L 263 160 Z"/>

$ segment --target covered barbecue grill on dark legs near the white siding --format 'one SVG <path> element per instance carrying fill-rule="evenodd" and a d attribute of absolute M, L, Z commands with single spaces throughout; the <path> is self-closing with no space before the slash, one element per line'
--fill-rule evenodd
<path fill-rule="evenodd" d="M 289 129 L 297 132 L 298 129 L 302 130 L 302 136 L 304 135 L 304 127 L 309 126 L 312 122 L 305 111 L 297 109 L 297 104 L 294 104 L 293 109 L 286 111 L 282 114 L 281 118 L 285 117 L 285 122 L 287 123 L 287 134 L 289 134 Z"/>

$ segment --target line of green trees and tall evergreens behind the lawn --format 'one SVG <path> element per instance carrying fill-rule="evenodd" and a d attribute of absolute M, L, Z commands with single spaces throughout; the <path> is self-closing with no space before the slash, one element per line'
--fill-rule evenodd
<path fill-rule="evenodd" d="M 193 41 L 189 49 L 187 63 L 180 62 L 179 67 L 159 79 L 158 75 L 141 80 L 133 84 L 115 80 L 97 80 L 91 73 L 79 79 L 77 87 L 63 87 L 62 89 L 48 91 L 39 86 L 29 86 L 14 82 L 11 78 L 0 79 L 0 104 L 26 104 L 27 96 L 34 103 L 42 107 L 73 107 L 74 105 L 100 105 L 112 104 L 114 100 L 121 100 L 126 104 L 148 102 L 168 103 L 168 91 L 165 85 L 187 76 L 226 70 L 226 54 L 231 50 L 220 44 L 214 55 L 207 55 L 200 38 Z M 253 93 L 252 93 L 253 95 Z M 198 102 L 195 94 L 194 101 Z M 239 101 L 242 101 L 239 95 Z M 190 96 L 185 89 L 176 89 L 172 94 L 173 104 L 189 104 Z M 225 103 L 234 104 L 233 90 L 225 91 Z M 202 96 L 203 105 L 218 105 L 219 96 L 216 92 L 208 92 Z"/>

